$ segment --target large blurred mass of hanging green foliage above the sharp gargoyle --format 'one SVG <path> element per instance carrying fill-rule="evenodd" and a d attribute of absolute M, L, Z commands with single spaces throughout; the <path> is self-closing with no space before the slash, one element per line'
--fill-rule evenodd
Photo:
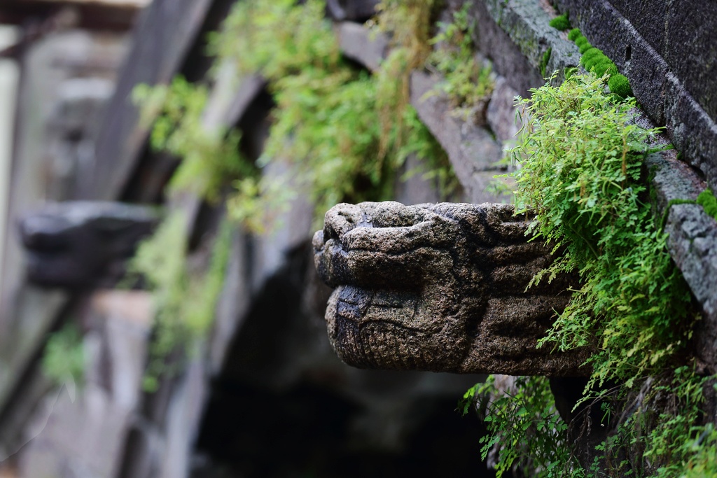
<path fill-rule="evenodd" d="M 379 25 L 394 32 L 396 47 L 369 75 L 341 57 L 323 1 L 243 1 L 234 7 L 211 37 L 211 51 L 216 64 L 267 78 L 277 107 L 258 166 L 284 163 L 280 168 L 292 171 L 283 178 L 260 177 L 256 170 L 234 176 L 228 200 L 234 219 L 263 231 L 297 190 L 308 192 L 317 217 L 337 202 L 391 198 L 407 140 L 427 135 L 424 125 L 406 119 L 412 115 L 408 74 L 427 57 L 431 8 L 432 2 L 418 1 L 379 6 Z M 432 163 L 450 171 L 445 153 L 440 156 Z"/>

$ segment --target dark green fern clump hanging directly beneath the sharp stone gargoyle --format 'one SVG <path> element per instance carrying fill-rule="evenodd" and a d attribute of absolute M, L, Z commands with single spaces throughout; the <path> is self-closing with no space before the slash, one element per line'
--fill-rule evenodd
<path fill-rule="evenodd" d="M 519 471 L 522 476 L 564 478 L 581 476 L 569 451 L 567 424 L 555 408 L 545 377 L 516 377 L 505 389 L 489 376 L 465 393 L 463 414 L 477 403 L 488 429 L 480 439 L 483 460 L 495 461 L 496 477 Z"/>

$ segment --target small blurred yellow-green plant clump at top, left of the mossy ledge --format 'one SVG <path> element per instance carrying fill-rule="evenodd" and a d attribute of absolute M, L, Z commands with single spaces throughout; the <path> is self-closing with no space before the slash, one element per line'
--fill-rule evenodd
<path fill-rule="evenodd" d="M 483 64 L 475 57 L 469 6 L 464 4 L 455 11 L 452 22 L 439 23 L 440 32 L 430 40 L 437 48 L 429 56 L 427 66 L 443 76 L 437 88 L 450 98 L 455 113 L 482 123 L 480 116 L 485 113 L 495 82 L 490 63 Z"/>

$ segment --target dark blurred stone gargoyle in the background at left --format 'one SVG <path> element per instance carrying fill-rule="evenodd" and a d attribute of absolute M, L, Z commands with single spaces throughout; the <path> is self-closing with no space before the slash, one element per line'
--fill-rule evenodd
<path fill-rule="evenodd" d="M 27 278 L 37 285 L 70 288 L 117 279 L 122 262 L 159 219 L 158 210 L 150 206 L 100 201 L 47 204 L 18 224 Z"/>

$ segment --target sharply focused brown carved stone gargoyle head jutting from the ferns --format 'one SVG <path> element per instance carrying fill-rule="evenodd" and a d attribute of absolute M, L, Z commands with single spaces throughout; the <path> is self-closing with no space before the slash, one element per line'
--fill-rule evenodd
<path fill-rule="evenodd" d="M 336 353 L 359 368 L 586 375 L 589 350 L 536 348 L 579 284 L 564 274 L 526 289 L 554 259 L 529 221 L 507 204 L 334 206 L 313 248 L 336 289 Z"/>

